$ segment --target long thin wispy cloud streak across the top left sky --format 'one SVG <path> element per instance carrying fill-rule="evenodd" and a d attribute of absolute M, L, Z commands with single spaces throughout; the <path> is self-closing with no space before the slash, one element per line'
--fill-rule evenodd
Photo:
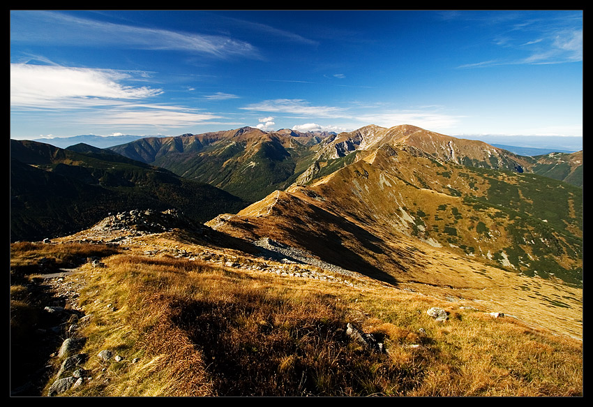
<path fill-rule="evenodd" d="M 55 35 L 59 32 L 59 35 Z M 130 24 L 114 24 L 66 13 L 24 10 L 10 15 L 13 42 L 57 43 L 61 45 L 118 46 L 142 50 L 181 50 L 211 57 L 259 58 L 250 43 L 227 36 L 212 36 Z"/>

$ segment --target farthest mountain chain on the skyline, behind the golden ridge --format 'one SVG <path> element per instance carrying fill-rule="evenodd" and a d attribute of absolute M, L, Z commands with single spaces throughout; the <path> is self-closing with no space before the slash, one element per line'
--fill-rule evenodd
<path fill-rule="evenodd" d="M 485 142 L 462 140 L 422 128 L 365 126 L 347 133 L 265 132 L 244 127 L 230 131 L 143 138 L 112 151 L 175 174 L 211 184 L 255 202 L 297 179 L 326 174 L 356 161 L 361 151 L 398 142 L 430 151 L 435 158 L 479 168 L 522 172 L 523 156 Z"/>

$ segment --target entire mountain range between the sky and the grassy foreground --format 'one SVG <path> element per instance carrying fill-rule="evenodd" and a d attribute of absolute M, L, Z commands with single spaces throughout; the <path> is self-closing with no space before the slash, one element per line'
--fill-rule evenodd
<path fill-rule="evenodd" d="M 110 149 L 12 140 L 11 159 L 11 237 L 168 205 L 232 237 L 388 283 L 453 281 L 454 270 L 435 274 L 427 251 L 583 280 L 582 151 L 520 156 L 370 125 L 340 134 L 244 127 Z"/>

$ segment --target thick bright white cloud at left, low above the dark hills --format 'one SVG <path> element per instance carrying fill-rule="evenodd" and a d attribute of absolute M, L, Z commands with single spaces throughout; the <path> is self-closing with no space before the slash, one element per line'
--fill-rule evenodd
<path fill-rule="evenodd" d="M 10 105 L 14 111 L 57 115 L 67 110 L 73 114 L 69 124 L 107 127 L 165 130 L 220 118 L 183 106 L 145 103 L 163 91 L 120 83 L 128 79 L 133 79 L 130 73 L 120 71 L 11 64 Z"/>

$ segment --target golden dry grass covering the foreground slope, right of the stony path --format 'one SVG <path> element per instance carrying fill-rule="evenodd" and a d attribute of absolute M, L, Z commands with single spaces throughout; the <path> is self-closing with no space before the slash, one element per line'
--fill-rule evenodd
<path fill-rule="evenodd" d="M 83 267 L 80 295 L 92 315 L 81 333 L 93 380 L 69 396 L 583 394 L 580 341 L 463 309 L 442 293 L 133 251 L 103 261 L 104 269 Z M 444 306 L 449 320 L 435 322 L 430 306 Z M 388 353 L 350 341 L 346 323 L 375 334 Z M 104 348 L 123 360 L 99 362 Z"/>

